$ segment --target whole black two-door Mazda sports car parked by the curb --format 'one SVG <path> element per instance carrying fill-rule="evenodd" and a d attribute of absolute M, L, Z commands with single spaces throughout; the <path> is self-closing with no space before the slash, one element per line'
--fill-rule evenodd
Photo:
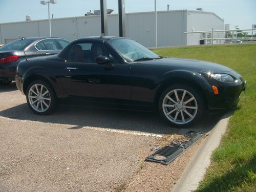
<path fill-rule="evenodd" d="M 216 63 L 164 58 L 135 40 L 86 37 L 58 55 L 20 61 L 17 88 L 39 115 L 58 102 L 122 109 L 158 109 L 170 125 L 189 126 L 205 110 L 238 104 L 245 81 Z"/>

